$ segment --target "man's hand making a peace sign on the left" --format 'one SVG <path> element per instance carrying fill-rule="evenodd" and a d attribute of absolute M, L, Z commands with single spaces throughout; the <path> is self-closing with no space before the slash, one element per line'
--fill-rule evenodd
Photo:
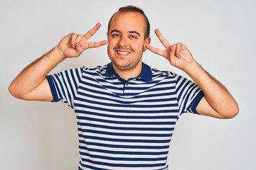
<path fill-rule="evenodd" d="M 60 43 L 57 45 L 56 49 L 60 52 L 63 57 L 78 57 L 81 53 L 92 47 L 100 47 L 107 44 L 107 40 L 102 40 L 99 42 L 88 42 L 87 40 L 96 33 L 100 28 L 100 23 L 92 28 L 85 35 L 77 35 L 75 33 L 70 33 L 66 35 Z"/>

